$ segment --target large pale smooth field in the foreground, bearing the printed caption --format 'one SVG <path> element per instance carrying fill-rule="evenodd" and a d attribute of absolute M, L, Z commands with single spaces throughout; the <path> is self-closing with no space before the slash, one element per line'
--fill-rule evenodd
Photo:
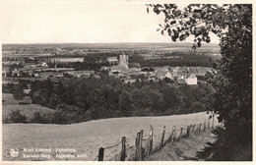
<path fill-rule="evenodd" d="M 150 125 L 154 127 L 154 146 L 160 143 L 162 127 L 166 126 L 166 138 L 171 133 L 172 126 L 178 130 L 181 126 L 200 124 L 208 119 L 206 112 L 160 116 L 160 117 L 132 117 L 112 118 L 90 121 L 72 125 L 45 124 L 3 124 L 3 160 L 85 160 L 96 158 L 99 147 L 106 147 L 127 138 L 129 146 L 135 145 L 138 132 L 144 130 L 144 138 L 149 137 Z M 82 158 L 57 158 L 56 148 L 75 148 L 72 154 L 84 154 Z M 51 148 L 50 158 L 17 158 L 10 156 L 10 149 L 18 148 Z M 131 148 L 131 147 L 129 147 Z M 112 149 L 105 149 L 104 159 L 107 160 L 120 151 L 120 145 Z M 130 150 L 127 150 L 129 152 Z M 66 153 L 67 152 L 61 152 Z M 69 153 L 71 154 L 71 153 Z"/>

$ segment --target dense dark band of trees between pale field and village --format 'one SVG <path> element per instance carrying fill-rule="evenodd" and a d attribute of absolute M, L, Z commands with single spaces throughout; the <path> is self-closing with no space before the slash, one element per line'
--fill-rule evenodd
<path fill-rule="evenodd" d="M 27 83 L 19 83 L 12 89 L 13 94 L 21 93 L 19 90 Z M 174 86 L 163 81 L 125 84 L 107 76 L 63 79 L 59 83 L 36 81 L 31 88 L 32 103 L 56 110 L 44 117 L 35 114 L 35 119 L 39 119 L 38 123 L 56 124 L 207 111 L 204 103 L 214 92 L 207 84 Z"/>

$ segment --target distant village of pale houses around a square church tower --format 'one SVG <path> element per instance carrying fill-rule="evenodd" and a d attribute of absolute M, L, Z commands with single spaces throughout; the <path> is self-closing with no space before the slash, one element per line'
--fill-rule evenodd
<path fill-rule="evenodd" d="M 204 76 L 206 72 L 211 72 L 208 67 L 144 67 L 139 63 L 129 63 L 129 55 L 125 52 L 118 56 L 107 57 L 108 66 L 103 66 L 99 71 L 75 71 L 74 68 L 57 68 L 60 63 L 83 62 L 83 58 L 45 58 L 35 62 L 33 57 L 29 62 L 21 62 L 21 68 L 10 68 L 10 64 L 3 63 L 2 76 L 3 83 L 15 83 L 15 79 L 35 80 L 56 80 L 65 76 L 95 77 L 99 79 L 99 73 L 106 73 L 109 77 L 120 79 L 124 83 L 135 83 L 136 81 L 160 81 L 169 79 L 177 84 L 198 84 L 197 76 Z M 9 62 L 10 63 L 10 62 Z"/>

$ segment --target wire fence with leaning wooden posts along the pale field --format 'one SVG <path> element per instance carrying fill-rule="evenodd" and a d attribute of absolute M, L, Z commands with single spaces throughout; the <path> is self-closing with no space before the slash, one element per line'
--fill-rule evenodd
<path fill-rule="evenodd" d="M 143 138 L 144 130 L 137 133 L 135 145 L 129 144 L 129 141 L 131 141 L 129 138 L 122 137 L 121 141 L 116 144 L 106 146 L 104 148 L 100 147 L 98 150 L 98 155 L 94 161 L 96 161 L 96 159 L 98 161 L 142 161 L 154 151 L 160 150 L 160 148 L 162 148 L 167 142 L 175 142 L 182 138 L 189 138 L 191 135 L 204 132 L 207 129 L 214 129 L 214 118 L 213 122 L 211 122 L 211 118 L 209 118 L 209 121 L 204 121 L 203 124 L 191 124 L 188 126 L 182 125 L 179 128 L 172 126 L 171 131 L 166 131 L 166 127 L 163 126 L 162 133 L 159 136 L 154 135 L 154 128 L 150 125 L 150 134 L 147 136 L 148 138 Z M 118 150 L 117 147 L 120 144 L 121 150 Z M 111 152 L 110 155 L 104 156 L 104 152 L 109 149 L 114 149 L 114 152 Z"/>

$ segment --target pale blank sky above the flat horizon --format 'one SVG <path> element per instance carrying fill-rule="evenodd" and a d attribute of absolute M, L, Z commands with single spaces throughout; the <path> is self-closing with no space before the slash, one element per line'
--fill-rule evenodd
<path fill-rule="evenodd" d="M 2 43 L 172 42 L 143 0 L 4 0 Z M 181 4 L 182 7 L 184 4 Z M 189 38 L 186 42 L 192 42 Z M 213 36 L 213 42 L 219 42 Z"/>

